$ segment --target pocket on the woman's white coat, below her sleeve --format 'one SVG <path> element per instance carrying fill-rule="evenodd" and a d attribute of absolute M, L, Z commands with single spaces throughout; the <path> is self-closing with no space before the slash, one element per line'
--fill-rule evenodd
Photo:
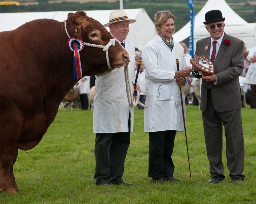
<path fill-rule="evenodd" d="M 170 85 L 153 85 L 154 102 L 170 100 Z"/>

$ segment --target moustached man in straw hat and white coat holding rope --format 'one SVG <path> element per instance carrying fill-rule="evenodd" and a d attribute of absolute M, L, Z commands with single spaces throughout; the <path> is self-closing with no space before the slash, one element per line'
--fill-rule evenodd
<path fill-rule="evenodd" d="M 104 24 L 129 53 L 130 83 L 135 79 L 135 49 L 133 43 L 126 37 L 129 24 L 135 21 L 128 19 L 125 11 L 114 10 L 109 15 L 109 23 Z M 110 74 L 96 77 L 95 80 L 93 132 L 96 133 L 94 149 L 96 185 L 133 185 L 122 179 L 130 144 L 130 132 L 133 132 L 133 108 L 128 104 L 124 84 L 123 67 L 112 70 Z M 137 86 L 136 91 L 138 89 Z"/>

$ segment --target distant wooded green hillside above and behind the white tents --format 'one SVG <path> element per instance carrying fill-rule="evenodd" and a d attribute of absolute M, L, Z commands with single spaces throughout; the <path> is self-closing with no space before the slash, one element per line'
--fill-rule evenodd
<path fill-rule="evenodd" d="M 0 0 L 1 1 L 1 0 Z M 3 1 L 3 0 L 2 0 Z M 226 0 L 226 2 L 246 2 L 242 0 Z M 203 3 L 194 1 L 194 10 L 197 14 Z M 178 31 L 190 20 L 190 9 L 186 0 L 129 0 L 123 2 L 123 8 L 144 8 L 149 17 L 154 21 L 154 14 L 157 11 L 169 10 L 175 16 L 175 30 Z M 254 7 L 253 6 L 231 6 L 244 20 L 249 23 L 254 22 Z M 0 6 L 0 13 L 3 12 L 41 12 L 41 11 L 77 11 L 77 10 L 112 10 L 119 9 L 119 1 L 108 2 L 62 2 L 48 3 L 46 0 L 40 0 L 38 5 L 20 5 L 20 6 Z M 228 16 L 225 16 L 228 18 Z M 106 16 L 108 18 L 108 16 Z M 1 19 L 3 20 L 3 19 Z M 202 19 L 203 21 L 204 19 Z"/>

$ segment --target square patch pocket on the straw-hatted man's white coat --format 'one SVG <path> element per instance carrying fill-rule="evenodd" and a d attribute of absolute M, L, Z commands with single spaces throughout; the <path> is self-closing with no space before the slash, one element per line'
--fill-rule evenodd
<path fill-rule="evenodd" d="M 104 103 L 123 102 L 123 85 L 122 84 L 103 85 L 103 101 Z"/>

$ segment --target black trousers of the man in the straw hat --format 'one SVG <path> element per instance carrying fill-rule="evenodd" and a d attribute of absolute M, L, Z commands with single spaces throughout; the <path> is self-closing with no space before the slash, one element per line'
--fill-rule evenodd
<path fill-rule="evenodd" d="M 95 138 L 95 172 L 96 182 L 121 182 L 124 163 L 130 145 L 130 113 L 129 131 L 122 133 L 97 133 Z"/>

